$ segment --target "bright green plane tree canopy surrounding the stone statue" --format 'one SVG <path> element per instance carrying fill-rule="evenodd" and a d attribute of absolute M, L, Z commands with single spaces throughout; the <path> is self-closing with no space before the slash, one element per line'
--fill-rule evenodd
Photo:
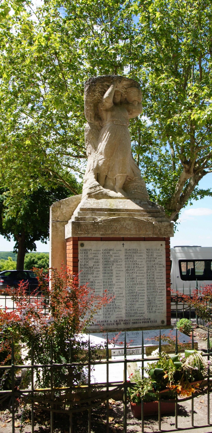
<path fill-rule="evenodd" d="M 86 165 L 84 81 L 135 78 L 143 114 L 132 152 L 170 220 L 212 170 L 209 0 L 48 0 L 0 31 L 1 181 L 11 194 L 62 185 L 79 194 Z M 33 10 L 33 12 L 32 12 Z"/>

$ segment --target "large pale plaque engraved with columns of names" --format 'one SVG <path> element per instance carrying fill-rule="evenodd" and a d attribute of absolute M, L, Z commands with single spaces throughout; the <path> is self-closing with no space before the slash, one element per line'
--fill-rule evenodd
<path fill-rule="evenodd" d="M 80 285 L 114 297 L 90 331 L 166 325 L 164 241 L 79 242 L 79 272 Z"/>

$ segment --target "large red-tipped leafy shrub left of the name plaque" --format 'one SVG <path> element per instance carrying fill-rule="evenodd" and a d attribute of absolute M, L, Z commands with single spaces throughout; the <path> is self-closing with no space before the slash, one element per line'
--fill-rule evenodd
<path fill-rule="evenodd" d="M 42 269 L 33 271 L 39 281 L 39 293 L 27 294 L 28 283 L 23 282 L 18 288 L 4 289 L 14 301 L 15 309 L 0 309 L 1 364 L 11 362 L 12 337 L 15 362 L 29 362 L 32 345 L 36 364 L 86 360 L 88 343 L 80 335 L 95 321 L 97 310 L 111 298 L 106 291 L 99 296 L 87 284 L 80 286 L 78 278 L 68 269 L 61 272 L 51 269 L 51 288 Z M 98 347 L 91 349 L 91 356 L 97 356 Z M 55 386 L 65 381 L 60 373 L 54 376 Z M 37 371 L 37 381 L 47 385 L 48 374 L 44 379 Z"/>

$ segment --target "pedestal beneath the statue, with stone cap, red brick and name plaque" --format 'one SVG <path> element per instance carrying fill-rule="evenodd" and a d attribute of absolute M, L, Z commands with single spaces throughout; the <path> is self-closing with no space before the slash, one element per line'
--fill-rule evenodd
<path fill-rule="evenodd" d="M 173 223 L 150 200 L 86 198 L 65 225 L 67 266 L 114 300 L 90 331 L 170 326 Z"/>

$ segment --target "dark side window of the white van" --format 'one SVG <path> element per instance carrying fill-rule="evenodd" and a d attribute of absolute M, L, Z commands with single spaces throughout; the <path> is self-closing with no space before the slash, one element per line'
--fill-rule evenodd
<path fill-rule="evenodd" d="M 183 281 L 212 280 L 212 260 L 179 260 L 179 268 Z"/>

